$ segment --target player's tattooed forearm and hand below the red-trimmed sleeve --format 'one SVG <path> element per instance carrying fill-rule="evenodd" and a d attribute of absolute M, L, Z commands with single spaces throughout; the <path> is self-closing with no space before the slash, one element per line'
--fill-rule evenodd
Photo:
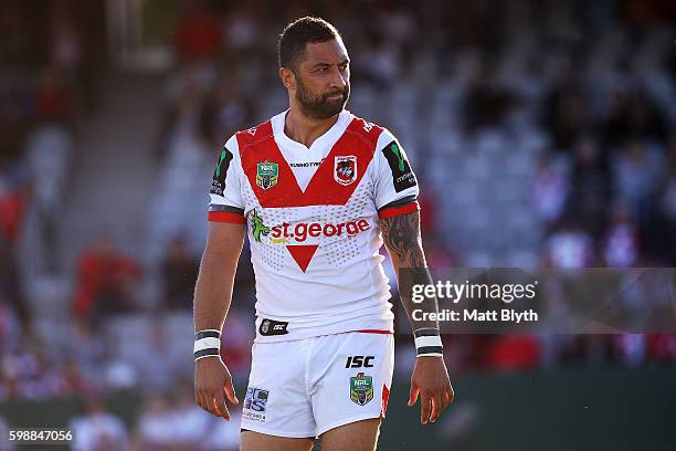
<path fill-rule="evenodd" d="M 421 304 L 412 302 L 412 284 L 431 284 L 432 277 L 426 269 L 425 255 L 420 235 L 420 213 L 413 211 L 405 214 L 385 218 L 380 221 L 382 238 L 397 271 L 400 286 L 400 297 L 411 322 L 413 331 L 420 328 L 437 328 L 436 322 L 415 321 L 413 310 L 437 312 L 436 298 L 425 300 Z M 406 271 L 404 274 L 403 271 Z M 404 281 L 405 280 L 405 281 Z M 411 376 L 411 392 L 409 406 L 415 405 L 420 396 L 420 422 L 434 422 L 453 401 L 453 388 L 443 358 L 421 356 L 415 359 Z"/>

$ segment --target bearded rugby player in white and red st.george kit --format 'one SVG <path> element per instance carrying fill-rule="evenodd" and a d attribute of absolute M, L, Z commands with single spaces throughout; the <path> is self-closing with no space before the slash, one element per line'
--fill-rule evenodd
<path fill-rule="evenodd" d="M 224 398 L 239 402 L 219 345 L 249 223 L 257 334 L 241 449 L 307 451 L 320 437 L 325 451 L 374 450 L 394 356 L 383 241 L 398 271 L 431 282 L 418 182 L 387 129 L 344 109 L 349 59 L 332 25 L 291 23 L 278 53 L 288 111 L 231 137 L 214 171 L 194 296 L 196 401 L 225 419 Z M 411 318 L 411 296 L 402 301 Z M 436 311 L 436 300 L 426 305 Z M 421 422 L 434 422 L 453 389 L 437 325 L 412 325 L 409 406 L 420 395 Z"/>

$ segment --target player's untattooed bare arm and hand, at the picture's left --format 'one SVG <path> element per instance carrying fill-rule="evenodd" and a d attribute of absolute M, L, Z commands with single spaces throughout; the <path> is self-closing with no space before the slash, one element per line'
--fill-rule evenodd
<path fill-rule="evenodd" d="M 209 222 L 207 248 L 194 289 L 194 331 L 221 331 L 230 308 L 237 260 L 244 242 L 244 226 Z M 228 367 L 219 356 L 194 365 L 194 400 L 204 410 L 230 420 L 225 406 L 239 403 Z"/>

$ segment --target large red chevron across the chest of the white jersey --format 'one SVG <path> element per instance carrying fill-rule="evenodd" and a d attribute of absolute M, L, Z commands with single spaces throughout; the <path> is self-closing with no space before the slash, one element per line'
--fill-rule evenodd
<path fill-rule="evenodd" d="M 239 133 L 237 143 L 242 169 L 263 208 L 346 204 L 371 162 L 382 132 L 377 125 L 355 118 L 303 191 L 275 143 L 271 122 L 255 128 L 254 135 Z M 263 175 L 261 164 L 270 169 Z M 338 169 L 340 175 L 336 174 Z M 270 177 L 276 178 L 271 182 L 266 179 Z"/>

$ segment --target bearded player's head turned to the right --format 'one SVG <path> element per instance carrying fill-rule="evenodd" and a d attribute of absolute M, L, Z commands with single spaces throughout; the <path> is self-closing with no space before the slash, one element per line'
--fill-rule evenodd
<path fill-rule="evenodd" d="M 338 31 L 317 18 L 289 23 L 279 36 L 279 76 L 292 102 L 316 119 L 342 111 L 350 95 L 347 50 Z"/>

